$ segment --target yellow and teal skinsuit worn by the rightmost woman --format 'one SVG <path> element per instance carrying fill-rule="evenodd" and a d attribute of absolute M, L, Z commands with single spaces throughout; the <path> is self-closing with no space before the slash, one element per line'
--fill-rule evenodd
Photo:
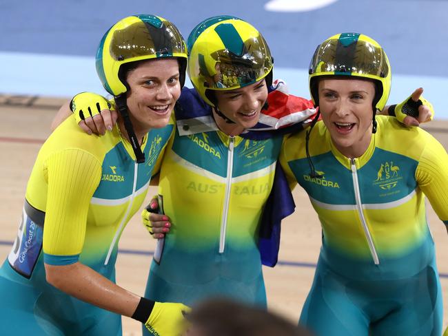
<path fill-rule="evenodd" d="M 448 155 L 430 134 L 377 116 L 367 151 L 349 159 L 323 122 L 285 140 L 281 164 L 323 229 L 301 324 L 316 335 L 440 335 L 442 301 L 425 196 L 448 224 Z M 298 253 L 300 251 L 298 250 Z"/>

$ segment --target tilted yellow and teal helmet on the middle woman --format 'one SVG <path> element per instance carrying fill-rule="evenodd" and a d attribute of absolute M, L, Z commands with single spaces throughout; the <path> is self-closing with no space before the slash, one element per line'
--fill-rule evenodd
<path fill-rule="evenodd" d="M 207 90 L 234 90 L 266 78 L 272 83 L 272 56 L 263 36 L 236 17 L 212 17 L 196 25 L 187 39 L 187 72 L 203 100 Z M 213 100 L 213 99 L 212 99 Z"/>

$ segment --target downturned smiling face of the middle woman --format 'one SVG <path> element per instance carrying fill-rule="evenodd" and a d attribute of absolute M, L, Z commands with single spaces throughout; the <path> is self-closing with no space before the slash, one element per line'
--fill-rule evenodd
<path fill-rule="evenodd" d="M 216 106 L 235 124 L 235 128 L 244 129 L 254 127 L 260 119 L 261 109 L 267 100 L 267 86 L 265 79 L 254 84 L 234 90 L 214 91 Z M 223 123 L 221 117 L 216 117 L 216 123 Z M 225 123 L 225 121 L 224 121 Z M 221 127 L 220 127 L 221 128 Z"/>

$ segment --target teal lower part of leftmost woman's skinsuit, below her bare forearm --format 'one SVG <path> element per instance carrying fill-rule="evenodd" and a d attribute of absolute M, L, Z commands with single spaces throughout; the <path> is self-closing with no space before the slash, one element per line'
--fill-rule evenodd
<path fill-rule="evenodd" d="M 33 272 L 34 283 L 16 273 L 8 260 L 0 269 L 2 335 L 70 336 L 121 335 L 121 316 L 69 297 L 44 283 L 43 264 Z M 37 280 L 37 278 L 39 278 Z"/>

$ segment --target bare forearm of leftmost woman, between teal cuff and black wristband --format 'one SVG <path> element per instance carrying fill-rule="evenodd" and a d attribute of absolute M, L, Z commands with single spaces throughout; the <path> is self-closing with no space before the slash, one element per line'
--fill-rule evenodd
<path fill-rule="evenodd" d="M 45 272 L 47 281 L 59 290 L 120 315 L 132 317 L 141 299 L 80 262 L 64 266 L 45 264 Z"/>

